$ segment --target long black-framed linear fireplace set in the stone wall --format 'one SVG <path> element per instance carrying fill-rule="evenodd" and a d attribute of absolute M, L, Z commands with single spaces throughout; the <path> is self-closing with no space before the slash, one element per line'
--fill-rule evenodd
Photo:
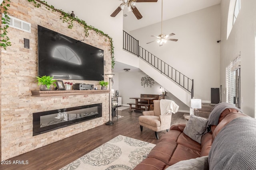
<path fill-rule="evenodd" d="M 33 113 L 33 136 L 102 117 L 102 104 Z"/>

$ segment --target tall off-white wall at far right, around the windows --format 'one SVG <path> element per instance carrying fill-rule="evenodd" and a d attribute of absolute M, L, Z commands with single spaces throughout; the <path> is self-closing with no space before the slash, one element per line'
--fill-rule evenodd
<path fill-rule="evenodd" d="M 227 37 L 229 0 L 221 2 L 220 84 L 226 102 L 226 66 L 241 52 L 241 109 L 255 117 L 256 1 L 241 0 L 241 10 Z"/>

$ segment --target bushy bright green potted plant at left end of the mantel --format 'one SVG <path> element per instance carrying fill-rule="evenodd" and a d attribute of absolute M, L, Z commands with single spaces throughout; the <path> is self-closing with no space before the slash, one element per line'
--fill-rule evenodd
<path fill-rule="evenodd" d="M 52 80 L 53 76 L 36 76 L 36 79 L 38 81 L 39 89 L 40 90 L 51 90 L 51 85 L 53 84 L 54 87 L 56 87 L 55 82 L 57 80 Z"/>

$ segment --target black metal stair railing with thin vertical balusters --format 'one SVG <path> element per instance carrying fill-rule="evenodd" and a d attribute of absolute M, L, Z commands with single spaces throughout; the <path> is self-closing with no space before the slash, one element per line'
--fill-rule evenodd
<path fill-rule="evenodd" d="M 140 47 L 139 41 L 123 31 L 123 49 L 142 58 L 148 64 L 153 66 L 161 74 L 164 74 L 169 79 L 176 82 L 182 88 L 191 93 L 191 98 L 194 97 L 194 80 L 188 78 L 169 64 L 165 63 L 146 49 Z"/>

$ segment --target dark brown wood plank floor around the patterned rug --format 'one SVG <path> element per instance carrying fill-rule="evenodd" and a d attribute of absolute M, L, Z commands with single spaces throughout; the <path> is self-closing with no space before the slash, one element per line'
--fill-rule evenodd
<path fill-rule="evenodd" d="M 80 158 L 84 154 L 94 150 L 100 145 L 110 141 L 118 135 L 124 135 L 149 143 L 157 144 L 154 131 L 144 128 L 140 132 L 138 117 L 140 112 L 128 112 L 129 109 L 118 111 L 118 115 L 124 117 L 113 119 L 114 125 L 101 125 L 94 129 L 57 141 L 50 145 L 32 150 L 25 154 L 9 159 L 11 165 L 0 165 L 0 170 L 58 170 L 70 162 Z M 184 113 L 176 113 L 172 116 L 172 124 L 186 122 Z M 166 133 L 162 131 L 159 137 Z M 13 164 L 13 161 L 23 160 L 24 164 Z M 28 164 L 26 164 L 28 161 Z"/>

